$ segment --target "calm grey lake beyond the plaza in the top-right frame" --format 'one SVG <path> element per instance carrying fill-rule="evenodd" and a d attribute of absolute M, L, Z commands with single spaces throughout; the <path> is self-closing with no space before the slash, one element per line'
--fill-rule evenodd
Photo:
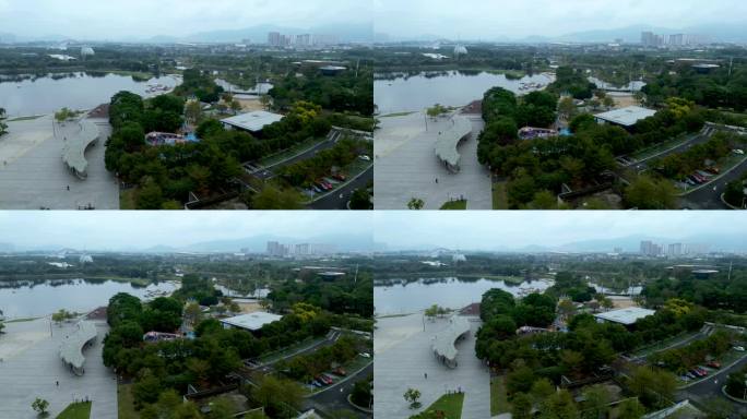
<path fill-rule="evenodd" d="M 393 80 L 382 80 L 386 74 L 377 74 L 374 82 L 374 103 L 381 115 L 417 111 L 435 104 L 464 106 L 482 99 L 485 92 L 493 87 L 503 87 L 517 95 L 546 87 L 555 81 L 548 73 L 534 74 L 519 80 L 509 80 L 505 74 L 487 72 L 447 71 L 443 73 L 419 73 L 402 75 Z M 522 89 L 530 83 L 542 87 Z"/>

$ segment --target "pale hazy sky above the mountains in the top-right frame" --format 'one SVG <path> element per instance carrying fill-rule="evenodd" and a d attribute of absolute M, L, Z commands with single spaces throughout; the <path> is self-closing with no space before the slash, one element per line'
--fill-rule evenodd
<path fill-rule="evenodd" d="M 644 24 L 681 28 L 743 23 L 744 0 L 374 0 L 375 31 L 395 37 L 424 34 L 490 39 L 558 36 Z"/>

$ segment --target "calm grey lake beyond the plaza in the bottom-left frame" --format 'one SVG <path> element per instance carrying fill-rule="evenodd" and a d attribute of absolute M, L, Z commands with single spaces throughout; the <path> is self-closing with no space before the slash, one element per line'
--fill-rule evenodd
<path fill-rule="evenodd" d="M 0 286 L 10 286 L 0 283 Z M 114 280 L 64 279 L 27 284 L 19 288 L 0 288 L 0 310 L 8 319 L 34 318 L 51 314 L 60 309 L 88 312 L 107 306 L 109 299 L 119 292 L 127 292 L 145 299 L 153 292 L 173 292 L 175 283 L 152 284 L 147 287 Z"/>

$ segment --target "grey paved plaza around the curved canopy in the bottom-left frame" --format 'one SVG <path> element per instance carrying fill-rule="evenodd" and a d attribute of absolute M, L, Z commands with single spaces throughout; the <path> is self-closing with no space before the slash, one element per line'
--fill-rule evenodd
<path fill-rule="evenodd" d="M 5 351 L 0 362 L 0 418 L 35 419 L 31 405 L 36 397 L 49 402 L 49 417 L 54 418 L 74 399 L 87 396 L 93 400 L 92 418 L 117 419 L 117 381 L 102 360 L 103 340 L 108 332 L 106 322 L 96 323 L 98 337 L 83 352 L 83 376 L 74 375 L 59 357 L 60 345 L 66 335 L 75 331 L 75 323 L 52 325 L 51 337 L 49 323 L 49 318 L 9 323 L 5 334 L 0 335 L 0 354 L 5 344 L 28 344 L 24 350 Z"/>

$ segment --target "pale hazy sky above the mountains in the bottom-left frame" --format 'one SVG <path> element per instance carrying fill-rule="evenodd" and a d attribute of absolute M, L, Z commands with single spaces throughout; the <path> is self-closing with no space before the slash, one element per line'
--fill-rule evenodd
<path fill-rule="evenodd" d="M 0 242 L 16 248 L 88 250 L 181 247 L 273 235 L 368 234 L 361 212 L 0 212 Z"/>

